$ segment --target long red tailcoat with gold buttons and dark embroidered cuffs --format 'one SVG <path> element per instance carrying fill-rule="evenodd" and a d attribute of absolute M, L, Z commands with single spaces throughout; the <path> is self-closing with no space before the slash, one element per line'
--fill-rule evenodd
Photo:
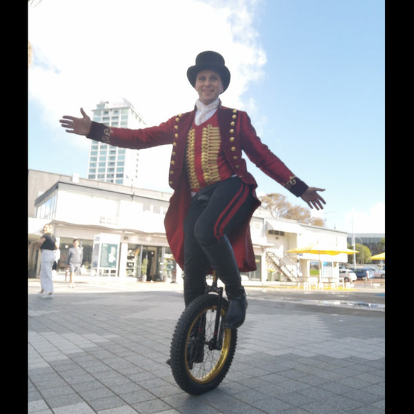
<path fill-rule="evenodd" d="M 235 251 L 237 265 L 242 271 L 255 270 L 255 255 L 250 237 L 249 222 L 253 212 L 260 205 L 255 189 L 257 182 L 247 171 L 242 150 L 250 161 L 256 164 L 269 177 L 282 184 L 291 193 L 299 197 L 308 186 L 295 177 L 285 164 L 271 152 L 257 137 L 246 112 L 220 106 L 217 110 L 221 145 L 234 173 L 250 185 L 255 197 L 255 205 L 246 217 L 244 224 L 233 231 L 228 238 Z M 181 268 L 184 267 L 184 218 L 190 205 L 190 187 L 184 166 L 186 141 L 195 116 L 195 110 L 179 114 L 159 126 L 131 130 L 114 128 L 92 122 L 88 138 L 103 141 L 123 148 L 143 149 L 164 144 L 172 144 L 170 172 L 168 182 L 174 190 L 164 225 L 172 255 Z"/>

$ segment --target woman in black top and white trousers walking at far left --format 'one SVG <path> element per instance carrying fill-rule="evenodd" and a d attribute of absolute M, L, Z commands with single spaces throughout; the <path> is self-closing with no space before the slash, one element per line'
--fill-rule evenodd
<path fill-rule="evenodd" d="M 43 235 L 41 235 L 37 248 L 41 250 L 40 259 L 40 286 L 39 295 L 44 299 L 53 297 L 53 279 L 52 266 L 55 262 L 55 250 L 59 249 L 56 237 L 52 233 L 52 225 L 43 226 Z"/>

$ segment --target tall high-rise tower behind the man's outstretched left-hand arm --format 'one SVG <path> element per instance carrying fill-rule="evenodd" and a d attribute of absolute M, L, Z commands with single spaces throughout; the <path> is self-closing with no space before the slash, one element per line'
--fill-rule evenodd
<path fill-rule="evenodd" d="M 92 121 L 120 128 L 144 128 L 145 122 L 132 103 L 101 101 L 92 110 Z M 119 148 L 99 141 L 90 141 L 88 179 L 97 179 L 124 186 L 135 186 L 138 170 L 138 150 Z"/>

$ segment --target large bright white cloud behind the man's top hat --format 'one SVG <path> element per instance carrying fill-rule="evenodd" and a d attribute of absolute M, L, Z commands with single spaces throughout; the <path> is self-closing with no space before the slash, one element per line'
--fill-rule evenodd
<path fill-rule="evenodd" d="M 201 50 L 217 50 L 232 75 L 224 105 L 243 108 L 241 95 L 266 62 L 254 27 L 258 3 L 42 0 L 29 6 L 29 97 L 50 128 L 60 128 L 61 115 L 79 114 L 80 106 L 90 113 L 114 97 L 155 125 L 193 108 L 186 70 Z"/>

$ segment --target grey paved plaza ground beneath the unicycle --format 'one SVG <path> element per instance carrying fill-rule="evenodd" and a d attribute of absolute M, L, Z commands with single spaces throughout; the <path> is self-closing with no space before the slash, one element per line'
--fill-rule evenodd
<path fill-rule="evenodd" d="M 182 287 L 83 277 L 55 295 L 28 279 L 30 414 L 384 414 L 384 288 L 247 287 L 220 386 L 194 397 L 166 359 Z"/>

